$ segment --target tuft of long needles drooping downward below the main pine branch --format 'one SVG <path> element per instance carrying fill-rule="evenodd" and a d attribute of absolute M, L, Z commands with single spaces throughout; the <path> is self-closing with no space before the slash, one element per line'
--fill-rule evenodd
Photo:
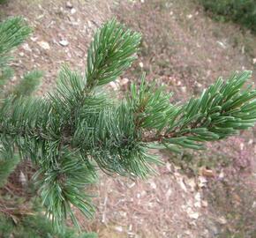
<path fill-rule="evenodd" d="M 48 208 L 49 217 L 54 214 L 54 223 L 57 224 L 70 214 L 74 224 L 78 225 L 71 205 L 78 207 L 88 218 L 92 218 L 94 207 L 91 205 L 90 197 L 82 190 L 94 182 L 95 175 L 83 159 L 79 158 L 79 154 L 65 149 L 60 156 L 58 167 L 45 165 L 35 175 L 40 177 L 38 187 L 42 204 Z"/>

